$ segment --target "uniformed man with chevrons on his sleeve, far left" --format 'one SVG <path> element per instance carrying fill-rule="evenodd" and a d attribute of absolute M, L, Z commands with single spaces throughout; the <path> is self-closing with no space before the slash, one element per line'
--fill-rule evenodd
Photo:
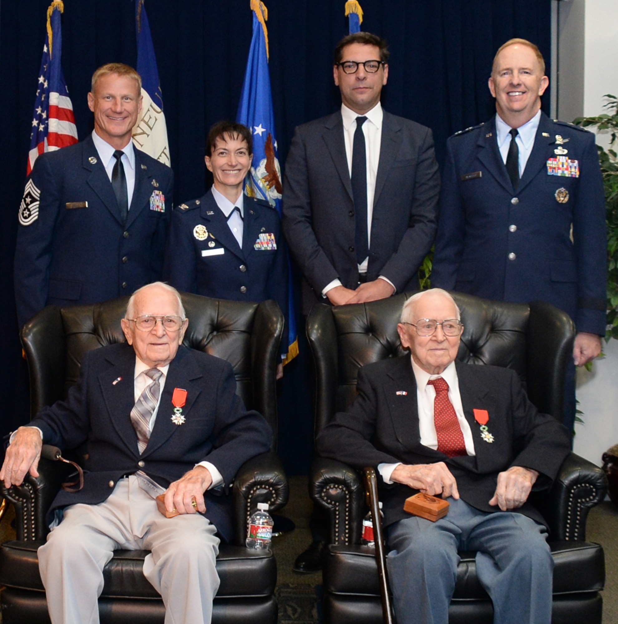
<path fill-rule="evenodd" d="M 97 303 L 160 279 L 172 170 L 135 149 L 141 78 L 110 63 L 92 76 L 94 132 L 40 155 L 19 208 L 19 326 L 46 305 Z"/>

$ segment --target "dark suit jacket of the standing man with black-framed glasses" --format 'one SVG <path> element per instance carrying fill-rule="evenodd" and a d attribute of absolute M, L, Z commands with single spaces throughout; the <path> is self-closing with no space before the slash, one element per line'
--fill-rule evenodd
<path fill-rule="evenodd" d="M 436 233 L 438 164 L 431 130 L 384 111 L 367 279 L 418 288 Z M 300 266 L 303 312 L 339 278 L 358 287 L 355 215 L 341 112 L 297 127 L 285 161 L 283 231 Z"/>

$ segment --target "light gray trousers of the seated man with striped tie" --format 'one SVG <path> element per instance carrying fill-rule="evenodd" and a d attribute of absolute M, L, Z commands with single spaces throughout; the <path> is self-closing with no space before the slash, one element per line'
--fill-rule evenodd
<path fill-rule="evenodd" d="M 150 550 L 144 575 L 165 604 L 165 624 L 208 624 L 219 578 L 215 527 L 200 514 L 165 518 L 132 475 L 99 505 L 71 505 L 39 548 L 52 624 L 98 624 L 102 570 L 114 550 Z"/>

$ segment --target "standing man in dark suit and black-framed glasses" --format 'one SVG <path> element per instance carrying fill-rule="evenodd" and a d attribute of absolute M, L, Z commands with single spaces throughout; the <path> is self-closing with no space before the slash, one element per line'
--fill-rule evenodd
<path fill-rule="evenodd" d="M 410 290 L 436 231 L 431 130 L 382 109 L 386 42 L 340 41 L 341 110 L 296 129 L 285 162 L 283 231 L 302 270 L 303 312 Z"/>

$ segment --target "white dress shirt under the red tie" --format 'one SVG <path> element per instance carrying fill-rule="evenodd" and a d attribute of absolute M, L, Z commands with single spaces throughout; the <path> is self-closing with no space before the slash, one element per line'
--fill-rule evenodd
<path fill-rule="evenodd" d="M 421 444 L 428 446 L 430 449 L 438 448 L 438 435 L 436 434 L 436 426 L 434 424 L 433 406 L 436 398 L 436 389 L 428 384 L 430 379 L 443 378 L 448 383 L 448 397 L 453 404 L 455 414 L 459 421 L 459 427 L 463 433 L 464 443 L 466 444 L 466 452 L 468 455 L 475 455 L 474 440 L 469 422 L 466 420 L 461 403 L 461 394 L 459 393 L 459 379 L 457 377 L 457 369 L 455 363 L 451 362 L 439 375 L 430 375 L 424 371 L 414 359 L 412 361 L 412 369 L 414 378 L 416 379 L 416 402 L 418 404 L 418 428 L 421 434 Z M 413 418 L 414 414 L 410 414 Z M 391 474 L 401 462 L 396 464 L 379 464 L 378 472 L 384 479 L 385 483 L 392 483 Z"/>

